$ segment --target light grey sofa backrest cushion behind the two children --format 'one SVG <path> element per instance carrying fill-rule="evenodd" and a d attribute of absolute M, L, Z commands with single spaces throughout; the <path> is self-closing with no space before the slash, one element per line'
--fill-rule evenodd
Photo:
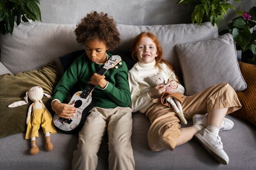
<path fill-rule="evenodd" d="M 22 22 L 10 34 L 0 34 L 0 61 L 13 74 L 41 68 L 55 60 L 61 73 L 63 67 L 59 56 L 84 49 L 76 42 L 74 24 L 46 24 L 40 22 Z M 117 24 L 121 44 L 117 50 L 129 51 L 132 39 L 141 32 L 149 31 L 159 39 L 164 59 L 168 60 L 179 75 L 181 68 L 177 59 L 177 44 L 198 42 L 218 37 L 217 27 L 210 22 L 197 24 L 171 24 L 153 26 L 132 26 Z M 191 49 L 193 50 L 193 49 Z"/>

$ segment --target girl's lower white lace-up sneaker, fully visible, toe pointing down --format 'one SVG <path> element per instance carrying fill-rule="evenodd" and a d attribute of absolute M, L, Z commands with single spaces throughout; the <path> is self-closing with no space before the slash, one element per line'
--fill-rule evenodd
<path fill-rule="evenodd" d="M 229 157 L 223 150 L 219 135 L 215 135 L 209 132 L 209 130 L 204 129 L 195 134 L 195 138 L 219 163 L 224 165 L 229 163 Z"/>

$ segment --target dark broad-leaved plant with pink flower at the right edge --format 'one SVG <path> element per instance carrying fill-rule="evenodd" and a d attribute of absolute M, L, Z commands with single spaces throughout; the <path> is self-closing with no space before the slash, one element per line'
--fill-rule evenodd
<path fill-rule="evenodd" d="M 246 56 L 243 62 L 248 62 L 251 64 L 256 64 L 256 7 L 252 7 L 249 12 L 236 11 L 240 16 L 231 20 L 227 24 L 228 29 L 220 31 L 220 35 L 224 33 L 231 33 L 233 39 L 236 42 L 236 50 L 242 51 L 242 57 L 244 52 L 251 53 L 251 57 Z"/>

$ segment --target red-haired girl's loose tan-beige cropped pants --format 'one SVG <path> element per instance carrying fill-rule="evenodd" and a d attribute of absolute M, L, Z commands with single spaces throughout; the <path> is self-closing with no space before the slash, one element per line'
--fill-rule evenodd
<path fill-rule="evenodd" d="M 182 97 L 182 109 L 187 120 L 195 114 L 206 114 L 218 108 L 229 108 L 227 114 L 241 108 L 236 92 L 227 83 L 211 86 L 193 96 Z M 151 126 L 148 144 L 151 150 L 173 150 L 180 137 L 180 119 L 172 107 L 161 103 L 148 108 L 146 116 Z"/>

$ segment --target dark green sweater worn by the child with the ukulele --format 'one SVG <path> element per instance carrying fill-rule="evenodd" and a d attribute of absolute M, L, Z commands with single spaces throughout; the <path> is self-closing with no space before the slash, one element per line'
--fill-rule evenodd
<path fill-rule="evenodd" d="M 108 58 L 112 55 L 108 54 Z M 128 68 L 124 61 L 118 68 L 110 68 L 106 73 L 108 86 L 102 90 L 100 86 L 96 86 L 92 91 L 92 99 L 95 107 L 115 108 L 128 107 L 130 104 L 130 90 L 128 86 Z M 60 82 L 54 89 L 53 99 L 63 102 L 74 84 L 78 85 L 77 91 L 83 91 L 93 73 L 98 73 L 104 64 L 96 64 L 91 62 L 86 53 L 79 56 L 70 67 L 65 71 Z"/>

